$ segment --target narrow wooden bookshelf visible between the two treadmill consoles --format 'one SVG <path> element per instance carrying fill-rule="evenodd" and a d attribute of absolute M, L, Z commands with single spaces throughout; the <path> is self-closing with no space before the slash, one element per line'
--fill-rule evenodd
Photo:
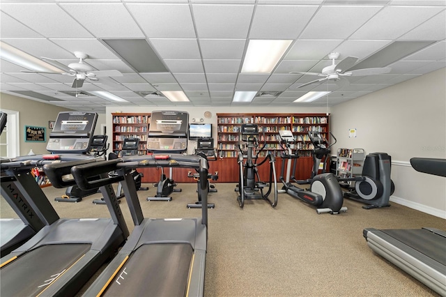
<path fill-rule="evenodd" d="M 114 153 L 121 156 L 125 138 L 139 138 L 138 154 L 145 155 L 147 149 L 148 126 L 151 114 L 115 113 L 113 117 L 112 148 Z"/>

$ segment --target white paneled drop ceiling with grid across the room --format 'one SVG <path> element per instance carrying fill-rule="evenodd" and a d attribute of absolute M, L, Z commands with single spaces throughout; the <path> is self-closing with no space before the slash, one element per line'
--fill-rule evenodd
<path fill-rule="evenodd" d="M 36 98 L 40 93 L 55 98 L 45 102 L 97 112 L 105 112 L 105 105 L 174 106 L 167 98 L 148 95 L 160 91 L 184 91 L 190 102 L 180 106 L 233 105 L 236 90 L 263 92 L 245 105 L 298 106 L 293 100 L 307 91 L 330 89 L 328 97 L 305 106 L 323 106 L 326 100 L 336 105 L 446 66 L 443 0 L 4 0 L 0 13 L 2 43 L 65 66 L 79 61 L 74 52 L 85 52 L 85 63 L 95 70 L 123 73 L 86 80 L 75 90 L 70 76 L 22 73 L 27 69 L 2 59 L 0 90 L 20 91 L 15 96 L 33 100 L 42 100 Z M 107 39 L 146 39 L 167 72 L 138 73 Z M 272 73 L 240 74 L 249 39 L 293 42 Z M 290 74 L 321 72 L 331 64 L 330 52 L 340 53 L 337 63 L 346 56 L 357 56 L 359 63 L 395 41 L 432 43 L 388 65 L 390 73 L 351 77 L 341 89 L 331 82 L 299 88 L 315 77 Z M 109 91 L 128 102 L 76 98 L 62 91 Z"/>

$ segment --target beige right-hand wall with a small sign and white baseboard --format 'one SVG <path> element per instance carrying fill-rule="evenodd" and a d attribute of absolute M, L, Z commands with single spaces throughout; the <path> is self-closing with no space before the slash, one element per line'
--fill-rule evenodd
<path fill-rule="evenodd" d="M 391 201 L 446 218 L 446 178 L 415 172 L 410 158 L 446 158 L 446 68 L 332 107 L 337 148 L 392 156 Z M 357 129 L 357 137 L 348 130 Z"/>

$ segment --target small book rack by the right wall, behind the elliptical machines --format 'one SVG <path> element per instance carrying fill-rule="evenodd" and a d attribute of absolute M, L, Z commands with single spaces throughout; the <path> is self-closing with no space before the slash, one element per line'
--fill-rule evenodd
<path fill-rule="evenodd" d="M 339 177 L 353 177 L 362 174 L 365 152 L 363 148 L 338 148 L 336 175 Z"/>

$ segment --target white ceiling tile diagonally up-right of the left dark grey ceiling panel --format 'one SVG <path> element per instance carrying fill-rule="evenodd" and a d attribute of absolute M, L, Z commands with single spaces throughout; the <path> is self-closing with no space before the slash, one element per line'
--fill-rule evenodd
<path fill-rule="evenodd" d="M 187 4 L 128 3 L 130 13 L 148 38 L 196 38 Z"/>

